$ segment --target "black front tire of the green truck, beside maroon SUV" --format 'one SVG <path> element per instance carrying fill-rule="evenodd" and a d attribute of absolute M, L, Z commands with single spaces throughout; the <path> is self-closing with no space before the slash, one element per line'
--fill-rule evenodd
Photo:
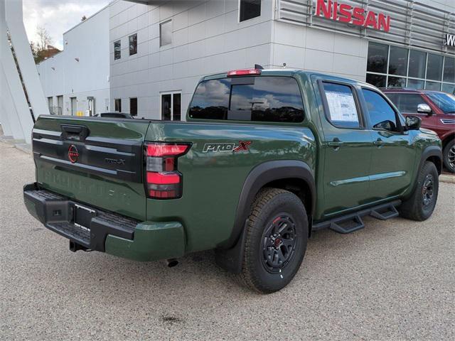
<path fill-rule="evenodd" d="M 436 206 L 439 180 L 438 171 L 434 163 L 426 161 L 417 175 L 417 184 L 411 197 L 407 199 L 399 208 L 400 215 L 407 219 L 417 220 L 422 222 L 431 217 L 434 207 Z M 424 205 L 424 185 L 425 182 L 431 177 L 433 181 L 432 200 L 428 205 Z"/>

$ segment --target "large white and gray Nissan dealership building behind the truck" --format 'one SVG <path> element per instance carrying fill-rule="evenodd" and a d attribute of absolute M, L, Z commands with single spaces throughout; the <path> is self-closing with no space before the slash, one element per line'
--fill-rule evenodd
<path fill-rule="evenodd" d="M 63 114 L 184 119 L 200 77 L 255 64 L 455 92 L 454 0 L 115 0 L 64 41 L 38 65 Z"/>

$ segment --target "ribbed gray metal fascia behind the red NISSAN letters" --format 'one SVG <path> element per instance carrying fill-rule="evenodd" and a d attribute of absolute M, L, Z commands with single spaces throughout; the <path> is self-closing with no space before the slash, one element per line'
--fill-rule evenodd
<path fill-rule="evenodd" d="M 443 45 L 446 33 L 455 34 L 455 13 L 412 0 L 343 0 L 341 3 L 389 15 L 390 31 L 363 28 L 313 15 L 316 0 L 279 0 L 277 20 L 455 55 L 454 49 Z"/>

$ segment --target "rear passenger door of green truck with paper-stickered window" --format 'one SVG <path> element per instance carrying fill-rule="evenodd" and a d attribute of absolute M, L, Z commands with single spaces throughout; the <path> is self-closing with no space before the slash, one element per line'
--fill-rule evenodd
<path fill-rule="evenodd" d="M 320 80 L 323 101 L 323 217 L 365 204 L 368 198 L 371 134 L 353 85 Z"/>

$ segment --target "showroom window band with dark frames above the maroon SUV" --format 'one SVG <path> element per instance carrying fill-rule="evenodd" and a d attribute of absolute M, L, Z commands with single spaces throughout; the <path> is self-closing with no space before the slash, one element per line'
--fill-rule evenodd
<path fill-rule="evenodd" d="M 368 83 L 455 92 L 455 58 L 394 45 L 368 44 Z"/>

